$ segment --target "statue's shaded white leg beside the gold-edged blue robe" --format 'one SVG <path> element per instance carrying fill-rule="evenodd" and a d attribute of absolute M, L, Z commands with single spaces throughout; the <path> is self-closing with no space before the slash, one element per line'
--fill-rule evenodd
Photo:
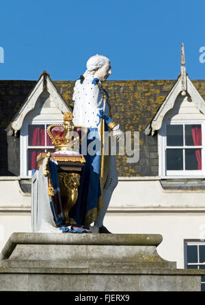
<path fill-rule="evenodd" d="M 118 172 L 115 165 L 115 156 L 111 156 L 109 172 L 107 175 L 107 180 L 105 183 L 105 187 L 103 189 L 103 209 L 100 210 L 98 218 L 94 225 L 98 228 L 103 226 L 103 220 L 105 217 L 105 213 L 107 212 L 107 208 L 109 206 L 109 202 L 111 200 L 111 196 L 113 194 L 113 190 L 118 185 Z"/>

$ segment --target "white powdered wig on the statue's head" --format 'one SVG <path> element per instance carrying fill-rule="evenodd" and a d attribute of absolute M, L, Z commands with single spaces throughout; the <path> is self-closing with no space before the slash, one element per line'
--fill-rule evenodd
<path fill-rule="evenodd" d="M 87 78 L 94 75 L 94 72 L 104 66 L 106 62 L 109 62 L 109 59 L 103 55 L 94 55 L 87 60 L 87 70 L 83 74 L 83 77 Z M 74 93 L 72 96 L 72 100 L 74 101 L 77 96 L 77 88 L 79 87 L 80 80 L 78 79 L 74 84 Z"/>

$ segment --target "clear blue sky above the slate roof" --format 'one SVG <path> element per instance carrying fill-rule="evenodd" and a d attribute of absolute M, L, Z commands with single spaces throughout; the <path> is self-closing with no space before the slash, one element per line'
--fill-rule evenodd
<path fill-rule="evenodd" d="M 96 53 L 111 59 L 109 79 L 176 79 L 182 42 L 189 77 L 205 79 L 204 12 L 204 0 L 4 0 L 0 79 L 36 80 L 47 70 L 76 80 Z"/>

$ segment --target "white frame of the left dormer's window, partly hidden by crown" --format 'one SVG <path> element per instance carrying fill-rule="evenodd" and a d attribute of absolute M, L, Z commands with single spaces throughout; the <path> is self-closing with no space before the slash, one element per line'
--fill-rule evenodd
<path fill-rule="evenodd" d="M 28 128 L 29 125 L 39 125 L 39 124 L 61 124 L 62 122 L 57 120 L 26 120 L 23 122 L 23 126 L 20 129 L 20 178 L 31 178 L 31 170 L 28 170 L 28 149 L 27 148 L 54 148 L 54 146 L 29 146 L 28 145 Z M 46 129 L 45 129 L 46 136 Z"/>

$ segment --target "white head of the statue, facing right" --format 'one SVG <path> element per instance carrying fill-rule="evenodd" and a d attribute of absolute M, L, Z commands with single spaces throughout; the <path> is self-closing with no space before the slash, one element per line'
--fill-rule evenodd
<path fill-rule="evenodd" d="M 103 55 L 94 55 L 87 60 L 87 71 L 92 75 L 100 79 L 100 81 L 106 81 L 109 75 L 111 75 L 111 65 L 107 57 Z"/>

